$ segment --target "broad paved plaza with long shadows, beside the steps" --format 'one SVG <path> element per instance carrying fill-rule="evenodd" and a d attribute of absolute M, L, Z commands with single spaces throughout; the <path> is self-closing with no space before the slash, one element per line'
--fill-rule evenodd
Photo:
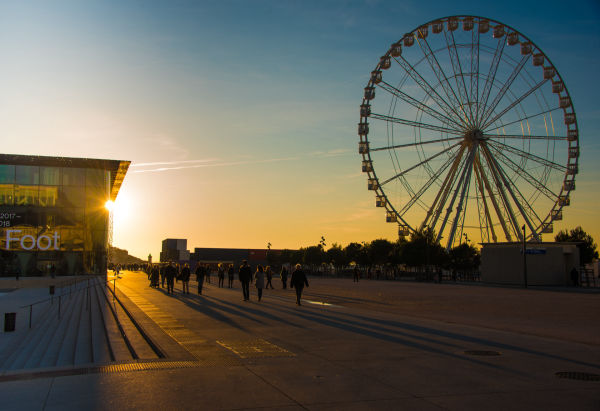
<path fill-rule="evenodd" d="M 298 307 L 278 279 L 261 302 L 211 280 L 168 295 L 125 272 L 166 357 L 5 373 L 0 408 L 600 409 L 599 381 L 557 376 L 600 374 L 598 293 L 309 278 Z"/>

